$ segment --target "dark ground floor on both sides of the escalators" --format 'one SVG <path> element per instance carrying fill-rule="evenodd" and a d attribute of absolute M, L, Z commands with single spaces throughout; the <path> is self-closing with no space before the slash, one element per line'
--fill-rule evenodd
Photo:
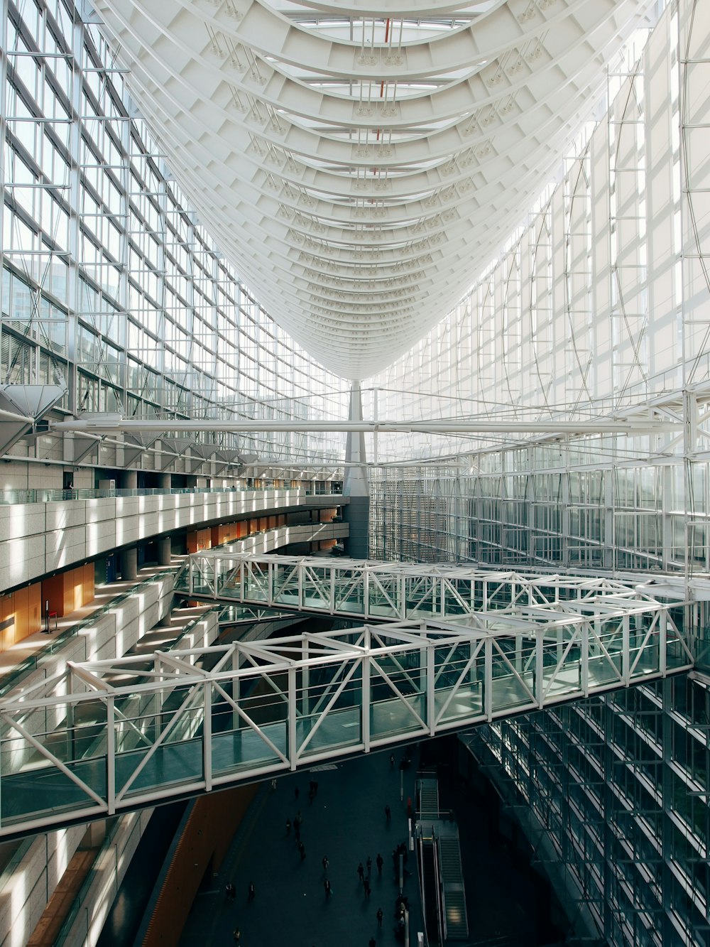
<path fill-rule="evenodd" d="M 553 943 L 549 922 L 549 892 L 541 878 L 524 863 L 498 831 L 485 794 L 471 792 L 457 776 L 455 739 L 425 742 L 419 761 L 400 774 L 390 768 L 389 751 L 333 762 L 298 775 L 281 777 L 275 791 L 264 786 L 225 859 L 219 876 L 205 880 L 181 938 L 181 947 L 233 943 L 240 928 L 242 947 L 395 947 L 395 899 L 399 888 L 392 869 L 392 850 L 407 838 L 407 800 L 415 797 L 417 763 L 436 766 L 441 805 L 453 808 L 459 824 L 470 924 L 469 945 L 477 947 L 538 947 Z M 399 761 L 401 750 L 396 750 Z M 403 798 L 400 800 L 400 777 Z M 309 801 L 309 783 L 318 793 Z M 299 790 L 295 798 L 294 790 Z M 384 806 L 392 809 L 387 824 Z M 286 820 L 300 810 L 301 860 L 293 829 Z M 382 877 L 375 865 L 382 852 Z M 326 874 L 322 859 L 328 855 Z M 364 895 L 358 863 L 373 861 L 372 894 Z M 413 905 L 410 944 L 417 944 L 422 919 L 417 872 L 405 883 Z M 328 877 L 333 894 L 328 900 L 323 883 Z M 229 903 L 224 885 L 233 882 L 237 899 Z M 250 882 L 256 897 L 248 902 Z M 376 911 L 384 920 L 378 930 Z M 461 943 L 459 941 L 459 943 Z M 463 945 L 462 945 L 463 947 Z"/>

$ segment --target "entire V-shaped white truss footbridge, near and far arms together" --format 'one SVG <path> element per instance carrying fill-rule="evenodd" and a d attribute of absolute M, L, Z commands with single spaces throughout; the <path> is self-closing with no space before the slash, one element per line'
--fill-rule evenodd
<path fill-rule="evenodd" d="M 315 611 L 350 617 L 357 605 L 364 621 L 67 662 L 17 691 L 0 703 L 0 836 L 310 768 L 693 666 L 682 603 L 654 599 L 652 586 L 234 554 L 222 572 L 219 555 L 198 554 L 186 569 L 190 596 L 206 598 L 193 580 L 208 586 L 210 558 L 215 591 L 239 589 L 240 601 L 281 609 L 323 601 L 328 608 Z"/>

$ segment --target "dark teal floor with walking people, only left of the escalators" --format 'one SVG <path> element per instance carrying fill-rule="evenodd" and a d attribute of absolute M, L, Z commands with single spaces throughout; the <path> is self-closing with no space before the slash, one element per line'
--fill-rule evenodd
<path fill-rule="evenodd" d="M 180 947 L 234 943 L 237 926 L 242 947 L 367 947 L 373 937 L 378 947 L 395 947 L 399 882 L 395 881 L 392 850 L 407 840 L 407 800 L 414 798 L 415 785 L 414 766 L 400 772 L 401 752 L 395 753 L 394 769 L 386 752 L 280 777 L 273 792 L 267 783 L 218 877 L 196 898 Z M 312 802 L 311 779 L 318 782 Z M 392 811 L 389 823 L 385 805 Z M 299 811 L 304 859 L 296 848 L 293 829 L 286 832 L 286 820 L 293 822 Z M 376 866 L 378 852 L 384 859 L 381 876 Z M 327 874 L 324 855 L 329 862 Z M 368 855 L 373 863 L 369 899 L 358 877 L 358 864 L 365 866 Z M 422 919 L 417 872 L 410 867 L 412 876 L 405 879 L 403 893 L 413 907 L 410 944 L 416 945 Z M 326 877 L 333 891 L 329 899 L 324 889 Z M 227 902 L 223 893 L 230 881 L 237 889 L 234 903 Z M 249 903 L 252 881 L 256 896 Z M 376 913 L 381 906 L 379 929 Z"/>

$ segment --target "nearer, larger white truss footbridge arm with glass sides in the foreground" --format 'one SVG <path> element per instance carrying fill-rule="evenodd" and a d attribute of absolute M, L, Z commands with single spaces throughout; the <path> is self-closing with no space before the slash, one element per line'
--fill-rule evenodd
<path fill-rule="evenodd" d="M 524 630 L 526 634 L 524 634 Z M 690 670 L 668 609 L 397 622 L 67 665 L 0 702 L 0 837 Z"/>

